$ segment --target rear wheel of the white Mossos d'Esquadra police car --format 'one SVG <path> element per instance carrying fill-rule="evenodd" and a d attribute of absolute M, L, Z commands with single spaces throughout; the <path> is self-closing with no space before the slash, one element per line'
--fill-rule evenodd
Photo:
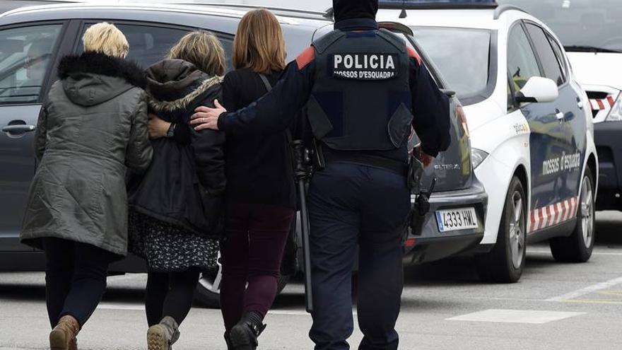
<path fill-rule="evenodd" d="M 583 176 L 583 186 L 577 209 L 577 226 L 568 237 L 553 238 L 549 241 L 551 253 L 558 262 L 587 262 L 594 249 L 594 175 L 587 168 Z"/>

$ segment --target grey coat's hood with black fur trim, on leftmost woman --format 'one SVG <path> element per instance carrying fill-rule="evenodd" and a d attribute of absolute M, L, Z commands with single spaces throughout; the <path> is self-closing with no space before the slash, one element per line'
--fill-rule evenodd
<path fill-rule="evenodd" d="M 58 75 L 71 102 L 83 106 L 99 105 L 131 88 L 146 86 L 140 66 L 97 52 L 64 57 Z"/>

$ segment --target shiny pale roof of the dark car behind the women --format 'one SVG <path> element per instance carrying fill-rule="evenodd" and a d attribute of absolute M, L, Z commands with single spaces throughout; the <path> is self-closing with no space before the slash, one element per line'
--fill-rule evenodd
<path fill-rule="evenodd" d="M 188 19 L 196 18 L 199 21 L 205 21 L 206 16 L 213 16 L 230 18 L 237 23 L 242 16 L 255 7 L 225 4 L 146 4 L 139 2 L 119 4 L 112 1 L 99 1 L 96 3 L 71 2 L 67 4 L 16 8 L 0 14 L 0 25 L 61 19 L 110 18 L 165 22 L 201 28 L 205 23 L 203 25 L 196 25 L 192 21 L 187 23 Z M 274 13 L 282 25 L 317 29 L 332 23 L 328 18 L 322 16 L 324 13 L 320 12 L 276 8 Z M 179 23 L 175 21 L 177 19 L 180 20 Z M 233 33 L 235 33 L 235 30 Z"/>

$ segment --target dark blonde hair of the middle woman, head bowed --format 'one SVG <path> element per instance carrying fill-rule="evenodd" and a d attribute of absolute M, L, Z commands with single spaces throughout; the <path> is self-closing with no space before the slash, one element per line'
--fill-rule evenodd
<path fill-rule="evenodd" d="M 216 35 L 198 30 L 184 35 L 168 53 L 170 59 L 183 59 L 210 76 L 225 74 L 225 49 Z"/>

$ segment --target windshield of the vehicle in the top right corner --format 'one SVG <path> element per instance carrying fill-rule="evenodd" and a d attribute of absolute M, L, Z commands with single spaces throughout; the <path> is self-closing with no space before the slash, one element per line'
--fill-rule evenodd
<path fill-rule="evenodd" d="M 567 51 L 622 52 L 620 0 L 498 0 L 546 23 Z"/>

